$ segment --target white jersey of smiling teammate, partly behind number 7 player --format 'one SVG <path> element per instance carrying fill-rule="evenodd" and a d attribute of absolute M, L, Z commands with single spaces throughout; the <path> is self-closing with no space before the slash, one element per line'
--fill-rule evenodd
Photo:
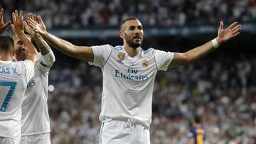
<path fill-rule="evenodd" d="M 42 63 L 41 53 L 35 67 L 35 74 L 28 82 L 22 104 L 21 135 L 50 132 L 48 113 L 48 72 L 52 65 Z"/>

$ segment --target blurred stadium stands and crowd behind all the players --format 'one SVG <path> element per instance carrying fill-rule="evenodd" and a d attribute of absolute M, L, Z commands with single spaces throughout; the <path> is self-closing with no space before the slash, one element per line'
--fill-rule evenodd
<path fill-rule="evenodd" d="M 207 57 L 159 72 L 153 96 L 151 143 L 188 143 L 200 114 L 206 143 L 256 143 L 255 0 L 1 0 L 5 19 L 15 9 L 42 16 L 50 33 L 75 45 L 120 45 L 119 21 L 137 16 L 142 48 L 185 52 L 215 38 L 219 21 L 238 21 L 242 33 Z M 8 33 L 5 33 L 7 35 Z M 52 143 L 98 143 L 100 68 L 55 50 L 48 94 Z"/>

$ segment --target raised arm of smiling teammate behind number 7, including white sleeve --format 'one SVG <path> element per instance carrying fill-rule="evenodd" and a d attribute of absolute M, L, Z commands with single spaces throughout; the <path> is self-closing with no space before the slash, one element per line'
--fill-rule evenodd
<path fill-rule="evenodd" d="M 28 18 L 33 19 L 33 21 L 36 21 L 36 15 L 33 15 L 32 13 L 28 13 Z M 55 55 L 53 54 L 53 51 L 50 49 L 48 43 L 46 43 L 46 41 L 43 40 L 41 35 L 33 31 L 33 28 L 31 26 L 28 26 L 27 23 L 25 23 L 25 29 L 26 32 L 28 32 L 28 34 L 31 35 L 31 37 L 36 41 L 36 44 L 38 45 L 38 49 L 40 50 L 42 55 L 40 60 L 41 64 L 44 67 L 51 67 L 55 62 Z"/>

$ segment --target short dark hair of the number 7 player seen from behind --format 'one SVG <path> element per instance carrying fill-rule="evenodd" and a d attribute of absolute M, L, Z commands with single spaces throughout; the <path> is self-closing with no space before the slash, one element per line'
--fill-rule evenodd
<path fill-rule="evenodd" d="M 14 40 L 9 36 L 0 36 L 0 50 L 1 52 L 14 50 Z"/>

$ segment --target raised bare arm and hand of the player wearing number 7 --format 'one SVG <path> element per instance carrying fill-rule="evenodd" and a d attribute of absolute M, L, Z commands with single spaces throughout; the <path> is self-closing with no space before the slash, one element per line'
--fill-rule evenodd
<path fill-rule="evenodd" d="M 22 42 L 26 47 L 28 48 L 28 57 L 26 57 L 26 60 L 31 60 L 36 65 L 36 48 L 31 43 L 31 41 L 28 40 L 24 33 L 24 27 L 25 27 L 25 21 L 23 21 L 23 12 L 21 11 L 18 16 L 18 11 L 12 13 L 12 18 L 14 22 L 14 32 L 18 35 L 18 38 L 21 38 Z"/>

